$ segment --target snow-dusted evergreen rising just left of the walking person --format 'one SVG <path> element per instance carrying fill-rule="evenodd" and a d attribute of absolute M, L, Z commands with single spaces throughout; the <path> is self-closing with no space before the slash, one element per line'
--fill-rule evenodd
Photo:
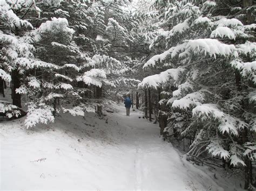
<path fill-rule="evenodd" d="M 90 39 L 91 59 L 84 63 L 85 73 L 78 77 L 78 80 L 95 86 L 97 102 L 100 104 L 106 101 L 102 102 L 101 96 L 111 100 L 120 99 L 123 94 L 120 91 L 122 88 L 131 89 L 134 83 L 139 82 L 133 77 L 132 67 L 137 64 L 137 58 L 146 49 L 146 36 L 145 31 L 135 30 L 146 16 L 130 11 L 129 6 L 128 2 L 110 1 L 93 3 L 89 9 L 91 15 L 97 13 L 88 26 L 91 30 L 86 36 Z M 90 69 L 93 70 L 92 73 Z M 100 74 L 96 74 L 96 71 Z M 102 75 L 102 71 L 106 76 Z M 92 74 L 93 76 L 89 76 Z M 97 79 L 96 75 L 102 79 Z"/>

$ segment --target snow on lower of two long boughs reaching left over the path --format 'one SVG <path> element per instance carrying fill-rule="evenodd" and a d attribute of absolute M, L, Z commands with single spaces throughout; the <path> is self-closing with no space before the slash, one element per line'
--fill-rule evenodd
<path fill-rule="evenodd" d="M 160 84 L 167 82 L 169 79 L 173 80 L 173 84 L 178 85 L 181 73 L 185 71 L 184 68 L 171 68 L 167 69 L 160 74 L 147 76 L 142 82 L 138 84 L 139 88 L 152 87 L 157 89 Z"/>

